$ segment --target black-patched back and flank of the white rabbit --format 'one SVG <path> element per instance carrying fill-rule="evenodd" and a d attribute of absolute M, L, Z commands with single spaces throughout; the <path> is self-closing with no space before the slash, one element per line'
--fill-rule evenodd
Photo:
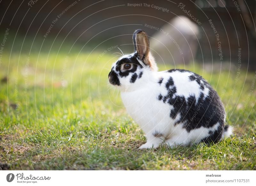
<path fill-rule="evenodd" d="M 177 69 L 161 72 L 166 73 L 170 77 L 163 78 L 161 86 L 167 94 L 159 93 L 158 100 L 172 106 L 170 117 L 179 117 L 174 125 L 181 124 L 188 133 L 198 128 L 209 129 L 209 134 L 216 131 L 220 135 L 213 141 L 218 141 L 225 123 L 225 109 L 217 92 L 193 72 Z"/>

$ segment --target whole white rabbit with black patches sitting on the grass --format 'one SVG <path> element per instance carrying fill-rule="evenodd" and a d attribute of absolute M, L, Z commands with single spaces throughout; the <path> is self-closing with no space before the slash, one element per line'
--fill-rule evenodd
<path fill-rule="evenodd" d="M 146 135 L 139 149 L 210 144 L 232 134 L 220 97 L 202 76 L 181 69 L 158 72 L 141 29 L 133 33 L 133 44 L 135 51 L 112 65 L 108 80 Z"/>

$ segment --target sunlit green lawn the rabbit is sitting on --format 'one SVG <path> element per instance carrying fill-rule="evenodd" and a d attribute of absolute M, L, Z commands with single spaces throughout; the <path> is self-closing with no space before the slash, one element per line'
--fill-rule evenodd
<path fill-rule="evenodd" d="M 236 82 L 236 69 L 186 66 L 217 90 L 235 135 L 210 146 L 138 150 L 146 138 L 107 83 L 115 59 L 108 53 L 3 56 L 0 169 L 256 170 L 255 74 L 241 72 Z"/>

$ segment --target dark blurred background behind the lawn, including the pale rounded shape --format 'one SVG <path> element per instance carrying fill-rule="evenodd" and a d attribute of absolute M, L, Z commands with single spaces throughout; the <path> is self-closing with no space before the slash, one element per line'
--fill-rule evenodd
<path fill-rule="evenodd" d="M 255 70 L 255 12 L 256 1 L 244 0 L 1 1 L 0 31 L 4 37 L 9 29 L 4 50 L 26 54 L 52 48 L 93 52 L 112 45 L 128 53 L 131 34 L 140 28 L 153 37 L 150 46 L 160 63 L 237 66 L 241 49 L 241 68 Z"/>

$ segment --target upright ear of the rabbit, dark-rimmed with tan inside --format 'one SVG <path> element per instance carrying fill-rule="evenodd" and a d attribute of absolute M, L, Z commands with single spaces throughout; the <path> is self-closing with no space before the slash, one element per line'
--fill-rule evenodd
<path fill-rule="evenodd" d="M 135 30 L 135 32 L 133 33 L 133 44 L 134 50 L 137 51 L 139 55 L 139 59 L 143 61 L 146 65 L 149 65 L 149 41 L 147 33 L 140 29 Z"/>

